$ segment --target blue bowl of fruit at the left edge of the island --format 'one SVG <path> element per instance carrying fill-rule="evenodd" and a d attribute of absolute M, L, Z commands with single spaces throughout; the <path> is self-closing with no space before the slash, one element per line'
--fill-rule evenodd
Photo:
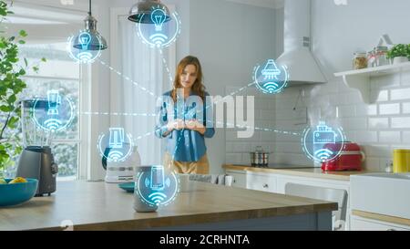
<path fill-rule="evenodd" d="M 36 195 L 38 180 L 16 177 L 0 178 L 0 207 L 12 206 L 27 202 Z"/>

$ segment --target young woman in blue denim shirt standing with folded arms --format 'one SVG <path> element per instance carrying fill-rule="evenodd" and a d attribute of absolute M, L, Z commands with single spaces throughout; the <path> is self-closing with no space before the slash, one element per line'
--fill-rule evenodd
<path fill-rule="evenodd" d="M 207 96 L 202 85 L 200 60 L 184 57 L 179 62 L 172 90 L 163 95 L 169 101 L 159 102 L 156 127 L 157 137 L 167 139 L 164 166 L 177 173 L 208 174 L 210 171 L 205 138 L 212 138 L 215 130 L 210 121 L 213 116 Z"/>

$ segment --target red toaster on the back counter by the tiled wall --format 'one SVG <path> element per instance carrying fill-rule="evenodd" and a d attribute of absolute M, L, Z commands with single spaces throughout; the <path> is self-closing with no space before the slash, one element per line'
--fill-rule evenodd
<path fill-rule="evenodd" d="M 336 142 L 328 143 L 324 147 L 332 151 L 340 150 L 340 153 L 332 160 L 322 162 L 323 171 L 362 171 L 362 162 L 365 156 L 357 143 Z"/>

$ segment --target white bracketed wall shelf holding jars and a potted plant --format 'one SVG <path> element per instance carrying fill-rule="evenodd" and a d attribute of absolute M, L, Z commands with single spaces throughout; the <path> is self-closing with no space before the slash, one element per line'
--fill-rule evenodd
<path fill-rule="evenodd" d="M 344 84 L 346 84 L 349 88 L 358 89 L 364 102 L 369 104 L 374 102 L 374 99 L 371 99 L 370 96 L 370 78 L 392 75 L 405 71 L 410 71 L 410 62 L 345 71 L 335 73 L 334 76 L 342 77 Z"/>

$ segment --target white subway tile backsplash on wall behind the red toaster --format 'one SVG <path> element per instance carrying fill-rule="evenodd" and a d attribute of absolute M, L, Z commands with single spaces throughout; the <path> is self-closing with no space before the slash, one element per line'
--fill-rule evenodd
<path fill-rule="evenodd" d="M 392 160 L 395 146 L 410 147 L 410 72 L 372 78 L 370 85 L 372 104 L 364 103 L 359 91 L 347 87 L 340 78 L 312 88 L 287 88 L 275 96 L 251 89 L 257 96 L 255 127 L 272 131 L 256 130 L 251 139 L 239 140 L 237 131 L 227 130 L 227 161 L 249 163 L 249 151 L 261 145 L 272 152 L 272 163 L 313 165 L 302 151 L 300 133 L 319 117 L 335 119 L 338 107 L 337 121 L 346 139 L 359 143 L 366 154 L 364 168 L 384 170 L 385 161 Z M 297 126 L 294 124 L 303 119 L 302 112 L 292 108 L 301 89 L 305 90 L 305 95 L 299 99 L 298 108 L 308 107 L 310 121 Z M 283 134 L 283 131 L 300 135 Z"/>

